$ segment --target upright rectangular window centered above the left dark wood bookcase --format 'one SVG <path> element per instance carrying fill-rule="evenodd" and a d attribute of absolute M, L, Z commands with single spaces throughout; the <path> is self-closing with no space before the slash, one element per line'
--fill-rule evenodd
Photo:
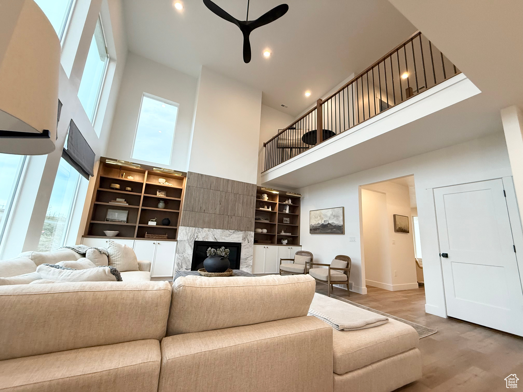
<path fill-rule="evenodd" d="M 177 117 L 176 103 L 143 95 L 132 158 L 170 165 Z"/>

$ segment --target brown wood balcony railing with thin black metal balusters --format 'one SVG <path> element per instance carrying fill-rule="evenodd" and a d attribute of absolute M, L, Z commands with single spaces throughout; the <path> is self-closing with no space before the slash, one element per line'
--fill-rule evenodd
<path fill-rule="evenodd" d="M 416 32 L 333 95 L 264 143 L 269 170 L 323 141 L 423 93 L 459 71 L 421 32 Z M 317 132 L 318 129 L 323 130 Z"/>

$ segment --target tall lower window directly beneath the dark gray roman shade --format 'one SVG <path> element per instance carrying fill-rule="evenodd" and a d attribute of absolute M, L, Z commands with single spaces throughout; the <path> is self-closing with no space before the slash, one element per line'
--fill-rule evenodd
<path fill-rule="evenodd" d="M 63 246 L 78 191 L 79 179 L 79 173 L 64 158 L 60 158 L 51 199 L 47 207 L 46 221 L 43 224 L 38 243 L 39 252 L 49 252 Z"/>

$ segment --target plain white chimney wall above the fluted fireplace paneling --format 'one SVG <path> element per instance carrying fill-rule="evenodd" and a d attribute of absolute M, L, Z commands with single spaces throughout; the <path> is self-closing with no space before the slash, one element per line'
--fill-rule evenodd
<path fill-rule="evenodd" d="M 256 183 L 261 91 L 202 67 L 189 171 Z"/>

